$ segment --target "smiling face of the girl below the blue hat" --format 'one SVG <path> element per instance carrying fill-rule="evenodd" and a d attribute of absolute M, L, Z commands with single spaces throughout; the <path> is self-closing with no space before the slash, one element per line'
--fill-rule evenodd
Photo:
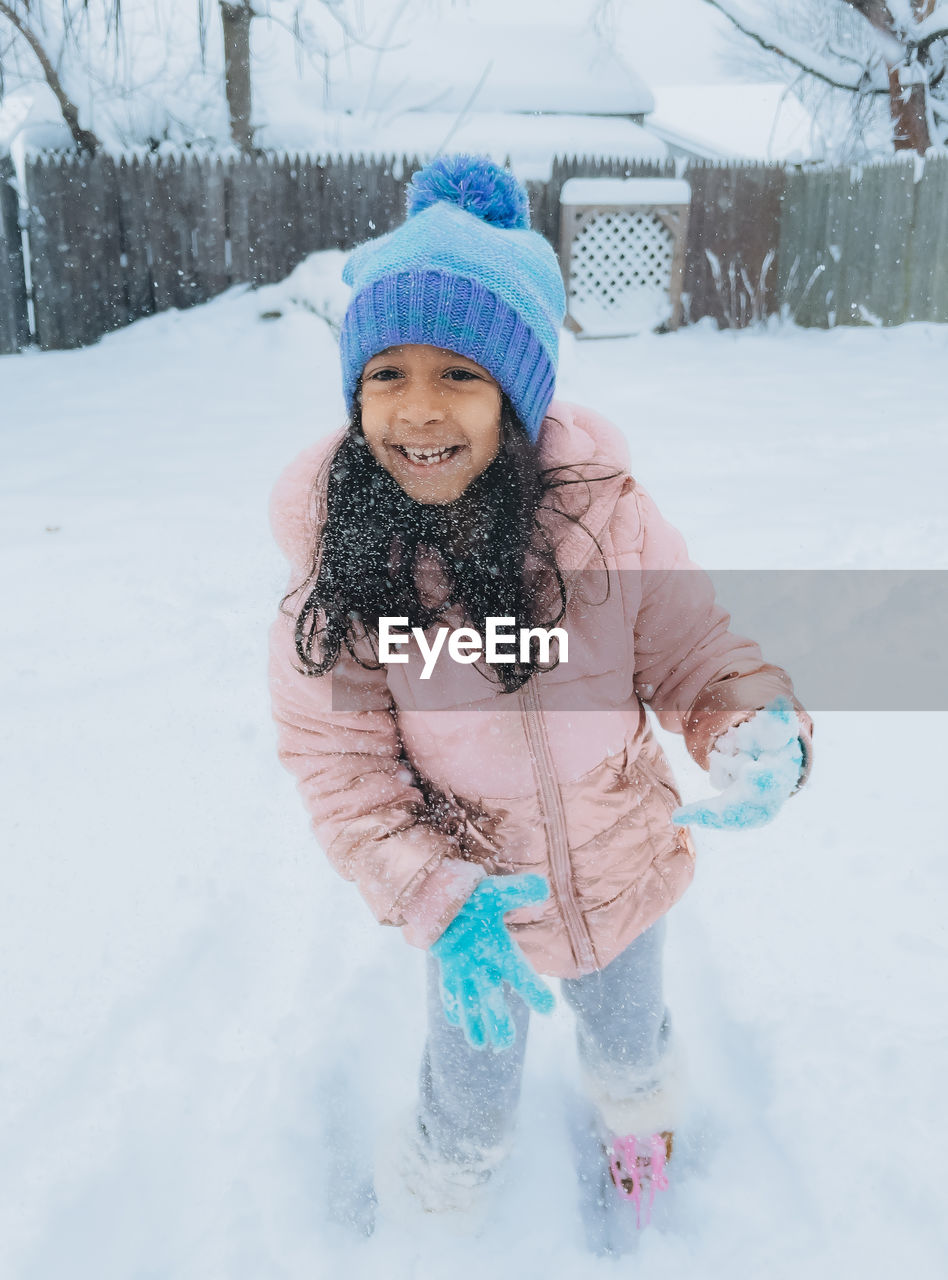
<path fill-rule="evenodd" d="M 454 502 L 500 448 L 502 392 L 486 369 L 441 347 L 389 347 L 362 371 L 362 433 L 415 502 Z"/>

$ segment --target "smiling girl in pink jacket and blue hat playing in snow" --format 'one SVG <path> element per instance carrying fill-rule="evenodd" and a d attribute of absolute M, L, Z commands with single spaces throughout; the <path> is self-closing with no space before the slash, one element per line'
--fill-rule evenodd
<path fill-rule="evenodd" d="M 280 756 L 333 865 L 429 952 L 408 1193 L 427 1211 L 485 1194 L 548 975 L 605 1176 L 649 1206 L 681 1112 L 661 941 L 686 824 L 773 817 L 811 723 L 728 631 L 619 433 L 551 403 L 565 300 L 523 188 L 446 157 L 408 212 L 345 268 L 348 425 L 274 494 L 294 571 L 273 628 Z M 645 705 L 716 800 L 678 808 Z"/>

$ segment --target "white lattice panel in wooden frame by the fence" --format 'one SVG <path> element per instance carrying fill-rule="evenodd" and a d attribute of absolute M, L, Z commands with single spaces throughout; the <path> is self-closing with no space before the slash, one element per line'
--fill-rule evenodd
<path fill-rule="evenodd" d="M 594 214 L 572 243 L 571 312 L 583 326 L 599 326 L 596 319 L 660 320 L 670 311 L 673 252 L 674 236 L 655 214 Z"/>

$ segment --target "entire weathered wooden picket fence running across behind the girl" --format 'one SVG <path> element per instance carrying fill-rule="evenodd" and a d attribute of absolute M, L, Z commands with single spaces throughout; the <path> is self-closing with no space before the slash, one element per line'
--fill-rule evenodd
<path fill-rule="evenodd" d="M 3 164 L 0 159 L 0 164 Z M 0 168 L 0 352 L 84 346 L 234 283 L 283 279 L 307 253 L 397 225 L 415 157 L 36 157 L 26 169 L 32 326 L 9 164 Z M 669 177 L 673 163 L 572 157 L 528 183 L 533 225 L 559 241 L 571 177 Z M 686 320 L 741 326 L 948 320 L 948 157 L 794 172 L 697 161 Z M 916 180 L 919 177 L 919 180 Z"/>

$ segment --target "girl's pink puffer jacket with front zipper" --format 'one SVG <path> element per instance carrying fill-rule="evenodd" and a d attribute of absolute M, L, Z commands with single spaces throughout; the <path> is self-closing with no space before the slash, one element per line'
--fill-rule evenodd
<path fill-rule="evenodd" d="M 338 442 L 304 452 L 274 490 L 293 588 L 320 520 L 313 483 Z M 720 733 L 793 690 L 728 631 L 710 580 L 629 477 L 615 428 L 554 403 L 540 444 L 545 466 L 612 475 L 558 490 L 589 532 L 549 525 L 574 589 L 560 623 L 567 663 L 503 694 L 446 652 L 421 681 L 412 641 L 407 666 L 368 671 L 344 655 L 330 675 L 307 677 L 293 643 L 296 595 L 273 627 L 271 691 L 280 758 L 316 836 L 379 920 L 427 947 L 484 876 L 539 872 L 549 900 L 508 923 L 539 973 L 572 978 L 604 968 L 692 878 L 688 832 L 669 817 L 678 791 L 642 704 L 706 767 Z M 606 580 L 590 534 L 608 593 L 590 585 Z M 811 723 L 796 705 L 809 764 Z"/>

